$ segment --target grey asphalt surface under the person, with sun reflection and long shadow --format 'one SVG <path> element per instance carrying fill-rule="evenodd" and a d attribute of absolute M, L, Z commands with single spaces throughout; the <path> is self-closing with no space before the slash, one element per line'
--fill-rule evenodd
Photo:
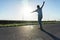
<path fill-rule="evenodd" d="M 60 24 L 0 28 L 0 40 L 60 40 Z"/>

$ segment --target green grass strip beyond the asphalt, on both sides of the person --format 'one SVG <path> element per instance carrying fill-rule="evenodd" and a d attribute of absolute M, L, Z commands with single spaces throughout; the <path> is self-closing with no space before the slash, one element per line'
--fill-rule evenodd
<path fill-rule="evenodd" d="M 43 21 L 43 24 L 56 24 L 60 23 L 60 21 Z M 38 25 L 37 21 L 27 21 L 27 22 L 21 22 L 21 23 L 10 23 L 10 24 L 0 24 L 0 27 L 18 27 L 23 25 Z"/>

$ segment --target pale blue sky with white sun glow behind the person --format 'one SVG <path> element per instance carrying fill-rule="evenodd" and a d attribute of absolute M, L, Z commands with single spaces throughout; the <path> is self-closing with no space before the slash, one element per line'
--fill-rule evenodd
<path fill-rule="evenodd" d="M 37 20 L 37 5 L 44 0 L 0 0 L 0 20 Z M 43 19 L 60 21 L 60 0 L 45 0 Z"/>

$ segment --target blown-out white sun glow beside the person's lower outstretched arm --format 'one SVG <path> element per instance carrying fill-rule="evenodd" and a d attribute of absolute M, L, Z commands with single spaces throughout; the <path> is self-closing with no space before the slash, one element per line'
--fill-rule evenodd
<path fill-rule="evenodd" d="M 21 8 L 21 13 L 23 14 L 23 19 L 24 20 L 29 20 L 32 17 L 32 12 L 33 8 L 30 5 L 24 5 Z"/>

